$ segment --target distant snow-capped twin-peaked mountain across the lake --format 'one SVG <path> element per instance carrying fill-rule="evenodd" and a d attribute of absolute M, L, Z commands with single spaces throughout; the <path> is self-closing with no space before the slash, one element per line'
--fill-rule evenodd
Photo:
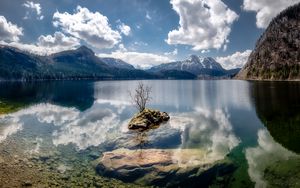
<path fill-rule="evenodd" d="M 150 72 L 161 72 L 166 70 L 185 71 L 200 78 L 230 77 L 232 74 L 235 75 L 239 71 L 238 69 L 225 70 L 212 57 L 203 58 L 196 55 L 191 55 L 188 59 L 183 61 L 164 63 L 149 69 Z"/>

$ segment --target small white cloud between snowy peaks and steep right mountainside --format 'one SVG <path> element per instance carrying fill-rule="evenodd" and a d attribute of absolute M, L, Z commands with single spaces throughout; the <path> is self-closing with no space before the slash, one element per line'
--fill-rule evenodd
<path fill-rule="evenodd" d="M 244 52 L 235 52 L 226 57 L 217 57 L 216 61 L 222 65 L 225 69 L 241 68 L 247 63 L 248 57 L 251 54 L 251 50 Z"/>

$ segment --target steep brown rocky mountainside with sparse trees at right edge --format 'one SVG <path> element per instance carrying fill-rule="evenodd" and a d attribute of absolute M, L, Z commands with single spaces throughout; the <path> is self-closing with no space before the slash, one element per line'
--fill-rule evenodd
<path fill-rule="evenodd" d="M 277 15 L 236 76 L 249 80 L 300 79 L 300 3 Z"/>

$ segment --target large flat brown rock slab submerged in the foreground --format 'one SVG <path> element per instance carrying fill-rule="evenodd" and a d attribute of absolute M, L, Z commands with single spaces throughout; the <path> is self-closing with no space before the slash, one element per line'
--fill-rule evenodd
<path fill-rule="evenodd" d="M 206 187 L 204 184 L 219 174 L 235 169 L 230 161 L 214 161 L 205 153 L 199 149 L 117 149 L 95 161 L 96 171 L 141 185 Z"/>

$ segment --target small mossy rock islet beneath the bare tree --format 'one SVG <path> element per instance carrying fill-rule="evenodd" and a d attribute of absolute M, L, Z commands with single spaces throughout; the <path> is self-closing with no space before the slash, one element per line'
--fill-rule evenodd
<path fill-rule="evenodd" d="M 135 115 L 128 124 L 128 129 L 131 130 L 147 130 L 155 129 L 161 123 L 167 122 L 170 116 L 166 112 L 158 110 L 145 109 Z"/>

